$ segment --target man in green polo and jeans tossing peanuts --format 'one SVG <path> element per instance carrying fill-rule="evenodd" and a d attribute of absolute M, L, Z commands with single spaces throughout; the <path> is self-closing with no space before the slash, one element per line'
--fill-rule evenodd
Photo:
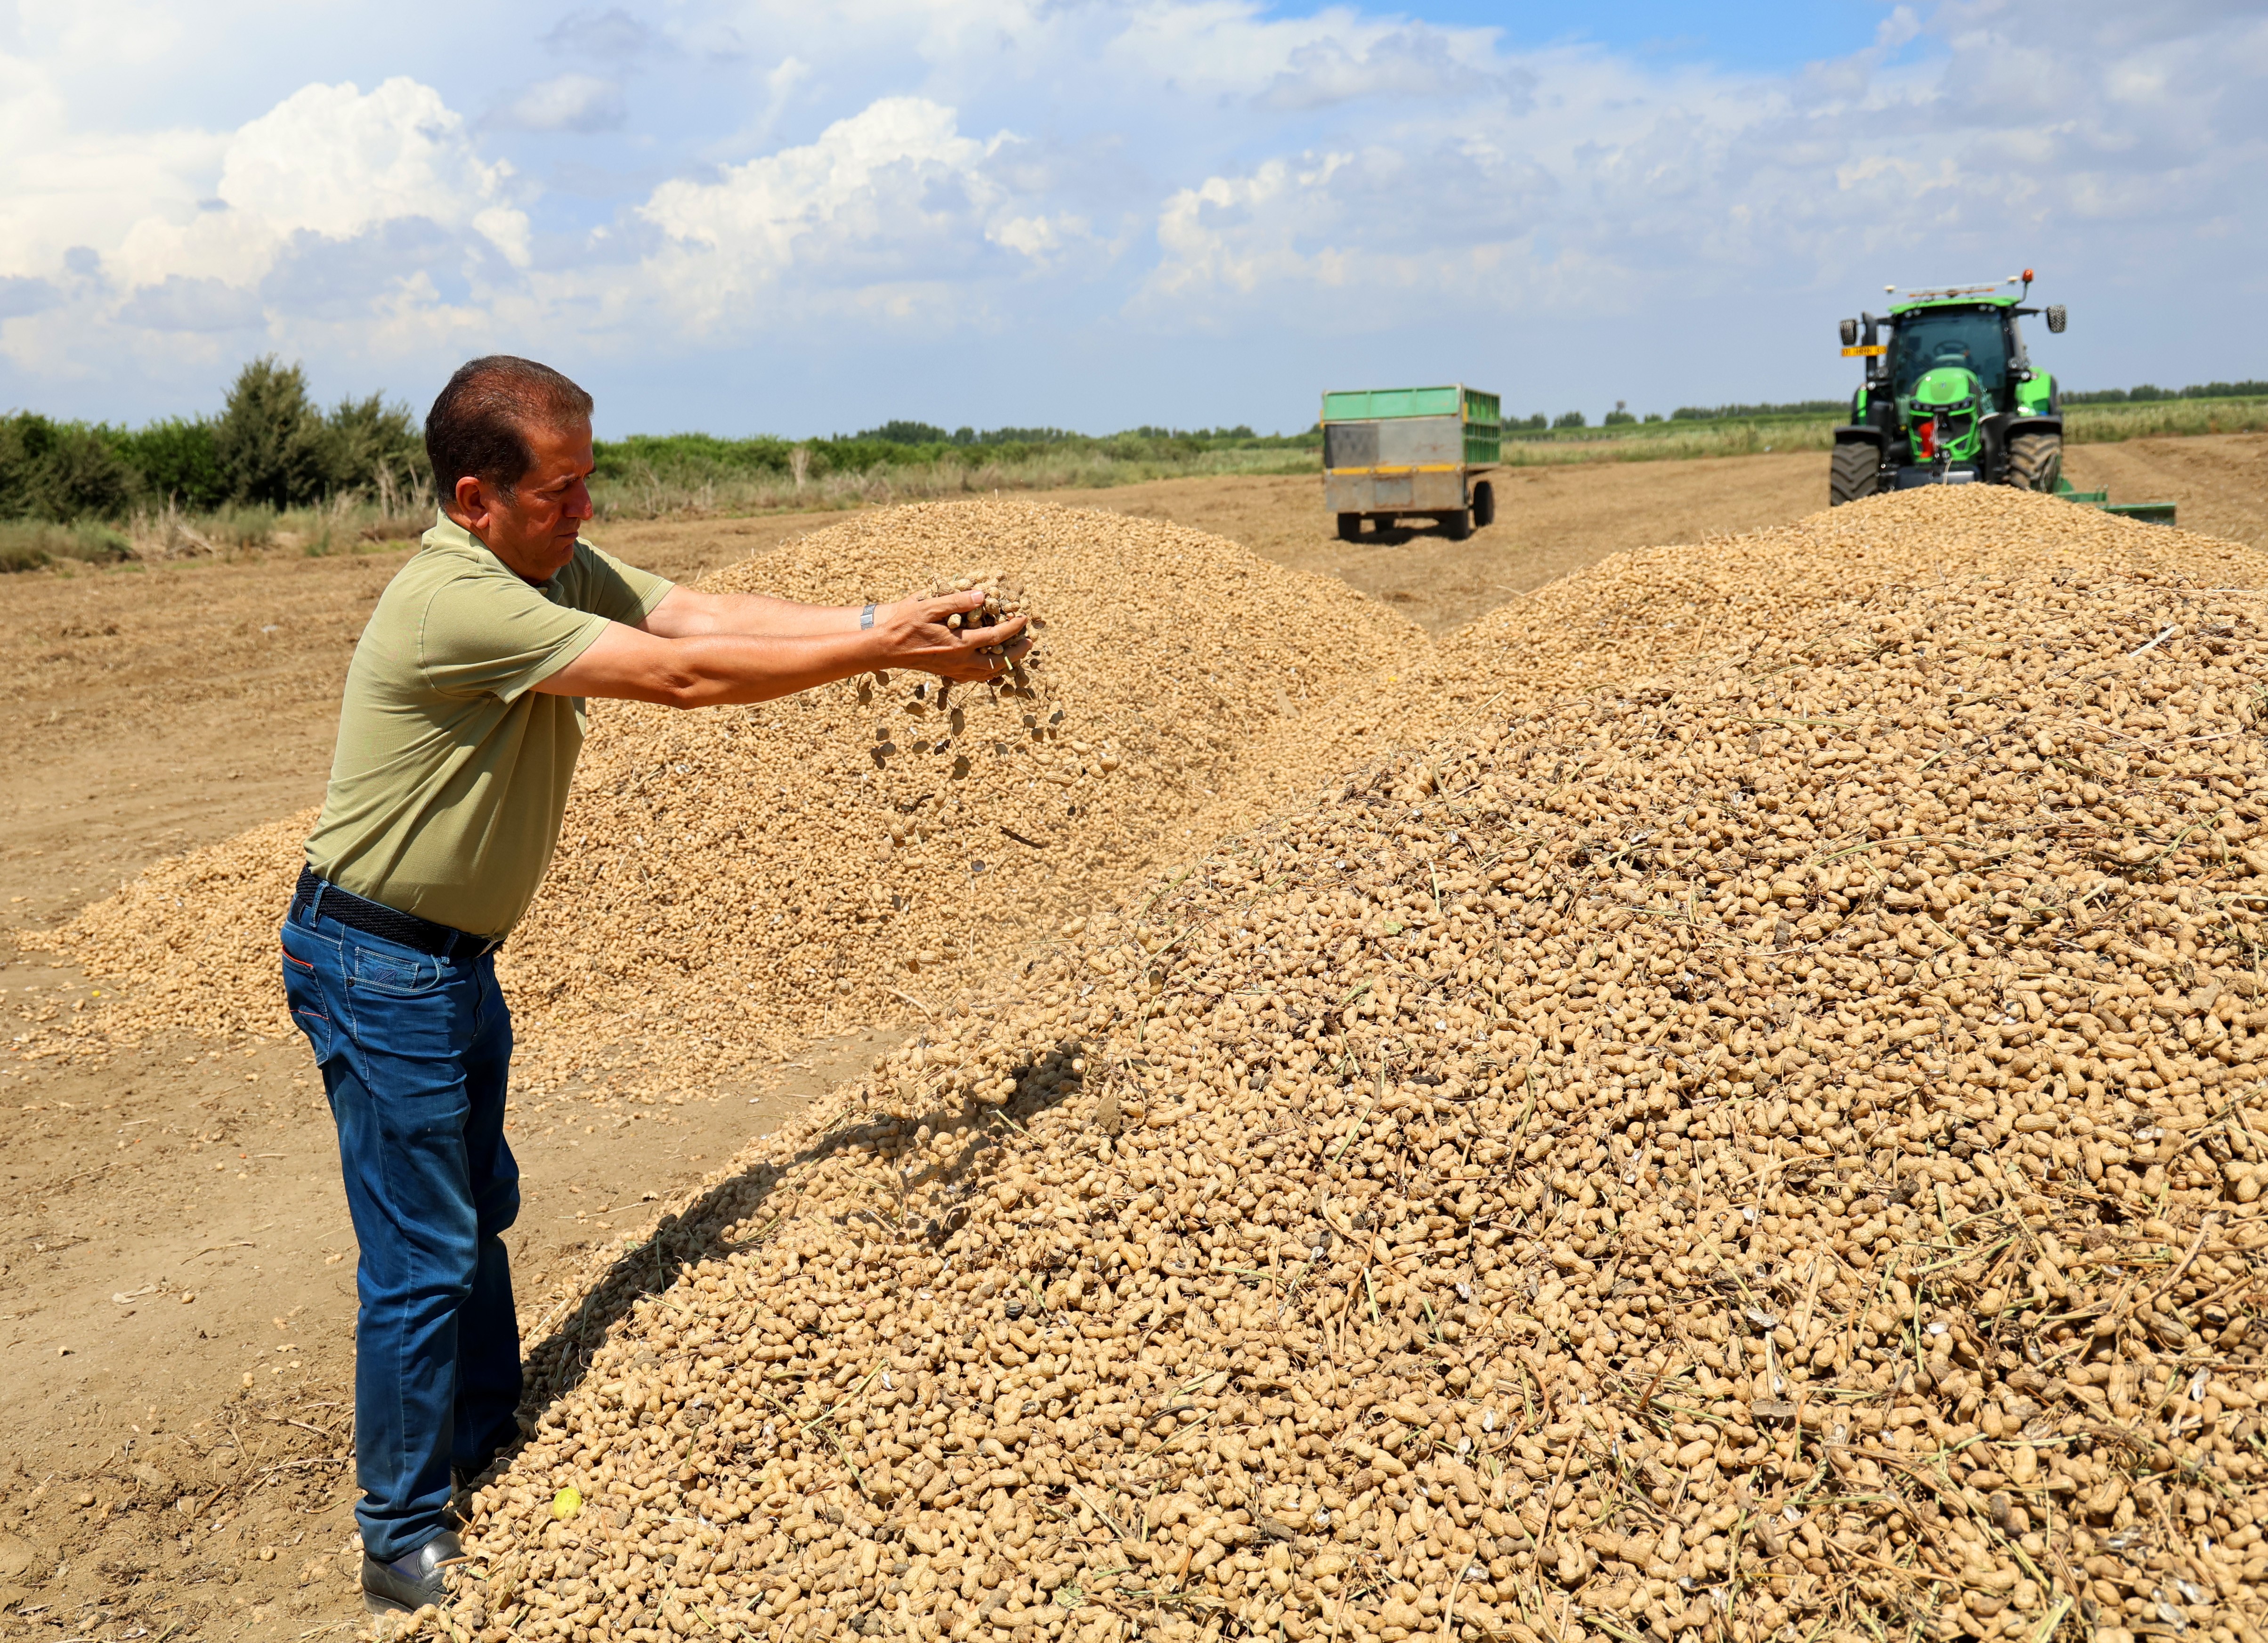
<path fill-rule="evenodd" d="M 442 517 L 347 669 L 322 819 L 284 921 L 284 985 L 322 1067 L 361 1241 L 354 1443 L 363 1602 L 445 1595 L 451 1471 L 515 1425 L 519 1332 L 501 1232 L 513 1023 L 494 951 L 558 842 L 585 697 L 769 701 L 875 667 L 982 681 L 1023 617 L 946 626 L 978 592 L 821 608 L 701 595 L 581 540 L 587 393 L 476 359 L 426 415 Z M 991 649 L 991 656 L 982 651 Z"/>

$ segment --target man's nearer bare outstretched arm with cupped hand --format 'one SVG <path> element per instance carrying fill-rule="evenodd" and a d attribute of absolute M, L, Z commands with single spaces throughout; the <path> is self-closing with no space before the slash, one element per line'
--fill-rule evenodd
<path fill-rule="evenodd" d="M 703 595 L 710 597 L 710 595 Z M 653 617 L 669 608 L 653 608 Z M 764 604 L 787 604 L 771 599 Z M 875 667 L 912 667 L 941 679 L 982 683 L 1005 663 L 980 656 L 984 647 L 1016 649 L 1023 617 L 989 629 L 948 629 L 946 617 L 984 604 L 980 592 L 941 599 L 900 599 L 878 606 L 873 626 L 862 626 L 857 606 L 789 606 L 812 617 L 835 620 L 819 631 L 733 633 L 694 631 L 683 638 L 649 629 L 608 624 L 590 649 L 544 679 L 535 690 L 553 697 L 615 697 L 658 701 L 669 708 L 714 708 L 737 701 L 771 701 L 798 690 L 850 679 Z"/>

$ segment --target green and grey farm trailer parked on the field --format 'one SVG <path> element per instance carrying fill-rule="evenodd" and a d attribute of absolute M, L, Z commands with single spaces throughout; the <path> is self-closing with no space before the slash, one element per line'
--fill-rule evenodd
<path fill-rule="evenodd" d="M 1388 529 L 1429 517 L 1452 540 L 1497 517 L 1497 492 L 1481 479 L 1504 458 L 1497 395 L 1447 388 L 1363 388 L 1322 395 L 1322 506 L 1338 515 L 1338 538 L 1356 542 L 1363 520 Z"/>

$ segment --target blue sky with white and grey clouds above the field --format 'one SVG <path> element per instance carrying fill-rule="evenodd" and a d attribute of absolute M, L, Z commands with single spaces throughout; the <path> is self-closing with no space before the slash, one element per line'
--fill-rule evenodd
<path fill-rule="evenodd" d="M 0 408 L 243 361 L 599 433 L 1846 395 L 2034 268 L 2071 386 L 2268 377 L 2257 0 L 0 0 Z"/>

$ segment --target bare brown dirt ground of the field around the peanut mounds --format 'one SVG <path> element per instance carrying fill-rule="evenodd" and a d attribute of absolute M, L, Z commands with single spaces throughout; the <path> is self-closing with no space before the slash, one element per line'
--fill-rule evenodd
<path fill-rule="evenodd" d="M 2080 486 L 2173 499 L 2268 545 L 2268 436 L 2071 454 Z M 1161 481 L 1055 499 L 1175 520 L 1336 574 L 1445 631 L 1608 551 L 1778 524 L 1826 502 L 1817 454 L 1513 470 L 1470 542 L 1343 545 L 1313 479 Z M 692 579 L 839 515 L 594 531 Z M 39 572 L 0 581 L 0 896 L 68 919 L 159 856 L 322 794 L 338 685 L 401 549 L 338 558 Z M 1141 567 L 1129 567 L 1141 574 Z M 20 1023 L 100 996 L 0 949 Z M 18 1028 L 11 1028 L 20 1030 Z M 513 1232 L 531 1348 L 594 1266 L 667 1278 L 658 1205 L 798 1101 L 855 1073 L 891 1023 L 814 1044 L 748 1089 L 596 1112 L 517 1110 Z M 100 1067 L 0 1058 L 0 1636 L 345 1634 L 354 1237 L 329 1117 L 290 1042 L 159 1042 Z"/>

